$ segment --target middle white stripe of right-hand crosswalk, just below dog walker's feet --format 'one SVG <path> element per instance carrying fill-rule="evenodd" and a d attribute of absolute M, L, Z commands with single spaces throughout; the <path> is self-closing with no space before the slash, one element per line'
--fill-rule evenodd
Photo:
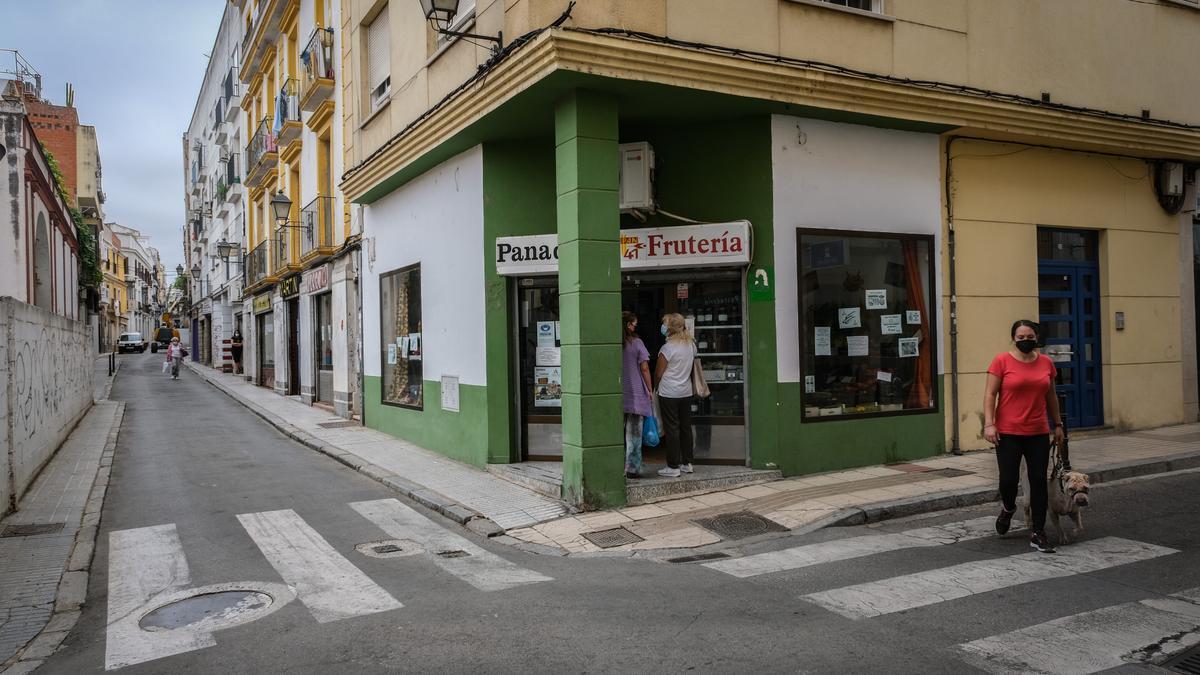
<path fill-rule="evenodd" d="M 1175 549 L 1104 537 L 1060 549 L 965 562 L 803 596 L 850 619 L 868 619 L 964 598 L 1020 584 L 1070 577 L 1178 552 Z"/>

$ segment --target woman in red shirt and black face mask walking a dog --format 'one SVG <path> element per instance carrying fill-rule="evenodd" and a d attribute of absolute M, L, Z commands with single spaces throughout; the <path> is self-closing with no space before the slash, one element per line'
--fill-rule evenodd
<path fill-rule="evenodd" d="M 1050 419 L 1055 441 L 1062 443 L 1062 416 L 1055 394 L 1055 368 L 1050 357 L 1034 350 L 1038 324 L 1018 321 L 1012 330 L 1013 348 L 996 354 L 988 366 L 988 386 L 983 395 L 983 437 L 996 446 L 1000 465 L 1000 515 L 996 532 L 1008 532 L 1016 510 L 1016 485 L 1021 477 L 1021 458 L 1030 476 L 1030 509 L 1033 532 L 1030 546 L 1054 552 L 1046 539 L 1046 470 L 1050 464 Z"/>

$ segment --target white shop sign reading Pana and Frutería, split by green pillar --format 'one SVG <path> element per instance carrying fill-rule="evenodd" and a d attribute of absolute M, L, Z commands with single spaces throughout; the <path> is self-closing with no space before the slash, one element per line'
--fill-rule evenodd
<path fill-rule="evenodd" d="M 671 269 L 750 264 L 750 221 L 708 222 L 620 231 L 620 269 Z M 496 238 L 496 273 L 558 271 L 558 235 Z"/>

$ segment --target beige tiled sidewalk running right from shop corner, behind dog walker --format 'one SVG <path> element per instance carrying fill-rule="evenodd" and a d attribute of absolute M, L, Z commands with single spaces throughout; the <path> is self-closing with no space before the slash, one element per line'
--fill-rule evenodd
<path fill-rule="evenodd" d="M 1073 468 L 1088 473 L 1093 485 L 1133 476 L 1194 468 L 1200 466 L 1200 424 L 1072 438 L 1070 458 Z M 732 514 L 749 512 L 778 524 L 778 530 L 806 532 L 832 525 L 859 525 L 997 502 L 996 485 L 995 454 L 972 452 L 962 456 L 942 455 L 911 464 L 787 478 L 619 510 L 560 518 L 510 530 L 500 539 L 558 555 L 668 557 L 685 555 L 679 549 L 725 542 L 716 532 L 697 524 L 702 519 L 722 515 L 727 519 Z M 736 516 L 736 520 L 751 530 L 763 527 L 762 521 L 754 516 Z M 766 527 L 769 526 L 766 524 Z M 588 538 L 589 534 L 614 528 L 624 528 L 641 540 L 601 548 Z M 616 534 L 628 537 L 624 532 Z"/>

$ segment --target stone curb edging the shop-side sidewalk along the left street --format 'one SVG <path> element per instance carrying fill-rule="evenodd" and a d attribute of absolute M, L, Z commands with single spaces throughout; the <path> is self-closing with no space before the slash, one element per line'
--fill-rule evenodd
<path fill-rule="evenodd" d="M 320 441 L 312 434 L 308 434 L 307 431 L 282 419 L 281 417 L 263 408 L 262 406 L 258 406 L 257 404 L 241 399 L 233 390 L 230 390 L 229 387 L 227 387 L 223 382 L 216 380 L 215 377 L 210 377 L 209 374 L 199 370 L 199 366 L 192 365 L 190 362 L 187 362 L 186 365 L 188 369 L 192 370 L 192 372 L 203 377 L 205 382 L 211 384 L 214 388 L 216 388 L 224 395 L 229 396 L 230 399 L 240 404 L 250 412 L 263 418 L 263 420 L 265 420 L 268 424 L 277 429 L 284 436 L 305 446 L 306 448 L 317 450 L 323 455 L 332 458 L 340 464 L 349 468 L 353 468 L 354 471 L 366 476 L 367 478 L 371 478 L 372 480 L 376 480 L 378 483 L 386 485 L 388 488 L 391 488 L 392 490 L 424 506 L 425 508 L 436 510 L 442 515 L 449 518 L 450 520 L 454 520 L 458 525 L 467 526 L 472 532 L 476 532 L 486 537 L 497 537 L 504 533 L 504 528 L 493 522 L 491 519 L 485 518 L 484 515 L 467 508 L 466 506 L 451 500 L 450 497 L 446 497 L 445 495 L 430 490 L 425 485 L 413 483 L 412 480 L 400 474 L 396 474 L 391 471 L 388 471 L 382 466 L 372 464 L 354 453 L 347 452 L 342 448 L 338 448 L 337 446 L 330 446 L 329 443 Z"/>

